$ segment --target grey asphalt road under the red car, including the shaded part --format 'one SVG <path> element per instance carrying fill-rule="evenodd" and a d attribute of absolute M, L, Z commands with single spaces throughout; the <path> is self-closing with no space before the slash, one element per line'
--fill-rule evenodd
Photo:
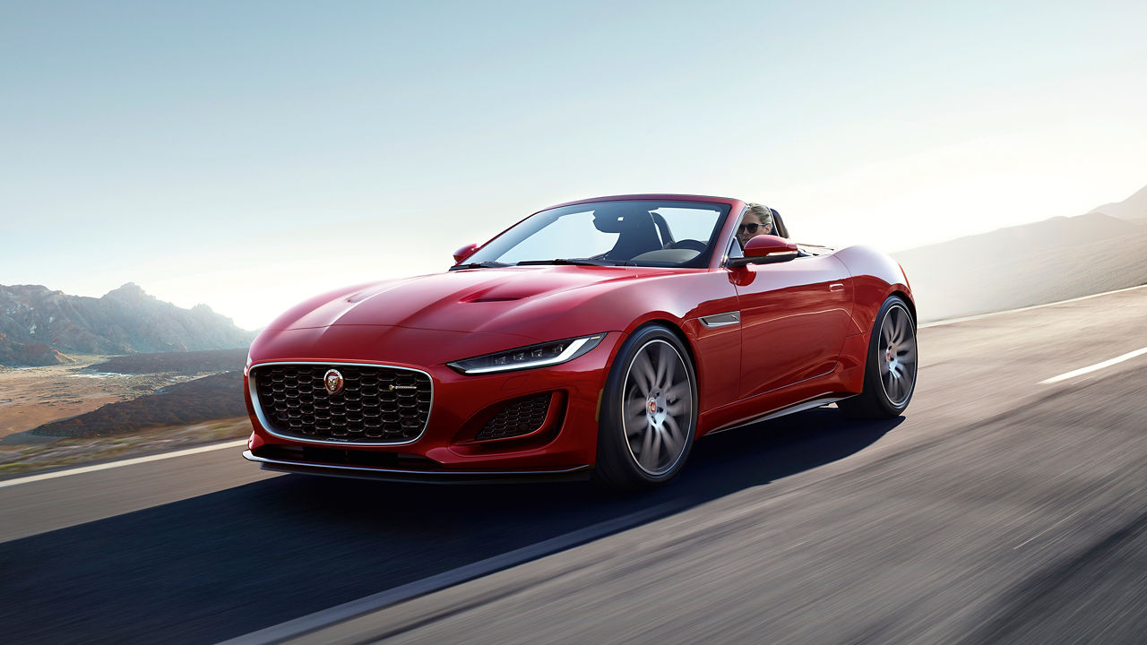
<path fill-rule="evenodd" d="M 1147 642 L 1147 288 L 920 331 L 905 417 L 702 440 L 672 485 L 414 487 L 233 451 L 0 488 L 0 639 L 210 643 L 616 524 L 313 643 Z"/>

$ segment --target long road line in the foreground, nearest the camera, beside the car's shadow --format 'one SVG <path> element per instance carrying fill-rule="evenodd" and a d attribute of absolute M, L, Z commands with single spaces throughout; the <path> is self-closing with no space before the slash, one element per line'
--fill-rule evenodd
<path fill-rule="evenodd" d="M 422 580 L 396 586 L 395 589 L 380 591 L 379 593 L 373 593 L 370 596 L 359 598 L 358 600 L 351 600 L 350 603 L 336 605 L 328 609 L 322 609 L 321 612 L 307 614 L 284 623 L 252 631 L 251 634 L 239 636 L 229 640 L 224 640 L 223 643 L 219 643 L 219 645 L 268 645 L 272 643 L 281 643 L 289 638 L 297 638 L 304 634 L 317 631 L 364 614 L 369 614 L 384 607 L 397 605 L 404 600 L 409 600 L 411 598 L 415 598 L 418 596 L 426 596 L 427 593 L 439 591 L 446 589 L 447 586 L 454 586 L 455 584 L 479 578 L 502 569 L 516 567 L 517 565 L 530 560 L 537 560 L 538 558 L 551 555 L 559 551 L 572 549 L 579 544 L 600 539 L 607 535 L 621 533 L 642 522 L 653 521 L 658 516 L 669 514 L 673 511 L 680 511 L 678 504 L 658 504 L 657 506 L 646 508 L 645 511 L 638 511 L 635 513 L 622 515 L 621 518 L 606 520 L 593 526 L 570 531 L 565 535 L 544 539 L 537 544 L 522 546 L 521 549 L 507 551 L 506 553 L 486 558 L 485 560 L 478 560 L 477 562 L 471 562 L 469 565 L 458 567 L 457 569 L 435 574 L 430 577 L 424 577 Z"/>

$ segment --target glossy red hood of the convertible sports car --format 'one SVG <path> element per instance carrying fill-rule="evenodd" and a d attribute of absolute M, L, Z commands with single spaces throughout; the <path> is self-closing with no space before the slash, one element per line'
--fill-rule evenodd
<path fill-rule="evenodd" d="M 502 332 L 513 319 L 569 304 L 560 294 L 665 275 L 660 267 L 520 266 L 435 273 L 359 286 L 311 301 L 268 331 L 385 325 L 447 332 Z M 592 289 L 595 290 L 595 289 Z M 557 301 L 561 301 L 559 303 Z M 606 329 L 598 329 L 606 331 Z M 533 337 L 546 337 L 545 331 Z"/>

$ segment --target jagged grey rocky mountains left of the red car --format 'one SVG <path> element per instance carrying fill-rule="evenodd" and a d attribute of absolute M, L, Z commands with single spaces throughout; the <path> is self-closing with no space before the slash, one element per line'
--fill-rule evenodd
<path fill-rule="evenodd" d="M 9 343 L 40 343 L 64 353 L 241 348 L 253 339 L 253 333 L 205 304 L 181 309 L 132 282 L 99 298 L 70 296 L 39 285 L 0 285 L 0 334 Z M 0 353 L 0 365 L 42 364 L 8 360 L 15 362 L 6 362 Z"/>

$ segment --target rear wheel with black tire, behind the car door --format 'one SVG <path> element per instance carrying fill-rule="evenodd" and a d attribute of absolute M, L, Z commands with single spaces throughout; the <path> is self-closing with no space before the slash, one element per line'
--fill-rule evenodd
<path fill-rule="evenodd" d="M 852 419 L 899 417 L 916 386 L 916 321 L 900 296 L 876 314 L 865 360 L 864 391 L 836 405 Z"/>

